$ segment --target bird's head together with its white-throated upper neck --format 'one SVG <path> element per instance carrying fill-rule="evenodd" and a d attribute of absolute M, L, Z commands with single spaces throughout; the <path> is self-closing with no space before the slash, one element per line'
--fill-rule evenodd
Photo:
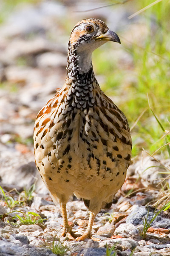
<path fill-rule="evenodd" d="M 108 41 L 120 43 L 118 35 L 109 30 L 105 22 L 98 19 L 79 21 L 71 31 L 68 43 L 68 77 L 92 70 L 92 52 Z"/>

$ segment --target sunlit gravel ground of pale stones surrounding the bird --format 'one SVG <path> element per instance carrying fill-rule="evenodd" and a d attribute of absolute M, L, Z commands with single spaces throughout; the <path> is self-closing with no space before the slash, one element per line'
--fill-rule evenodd
<path fill-rule="evenodd" d="M 77 10 L 82 8 L 80 3 Z M 0 87 L 0 185 L 6 194 L 6 200 L 3 196 L 0 201 L 0 256 L 53 256 L 54 246 L 68 256 L 105 256 L 107 247 L 113 246 L 112 253 L 117 256 L 170 256 L 170 213 L 161 212 L 142 237 L 144 218 L 149 222 L 155 210 L 146 205 L 158 199 L 160 182 L 165 178 L 160 171 L 170 165 L 160 156 L 143 154 L 132 161 L 111 209 L 96 216 L 92 233 L 99 242 L 59 238 L 61 210 L 54 206 L 35 168 L 32 136 L 37 112 L 65 81 L 68 36 L 61 20 L 68 17 L 74 25 L 85 17 L 75 13 L 74 7 L 57 1 L 21 5 L 0 26 L 0 81 L 6 85 Z M 127 11 L 122 7 L 106 8 L 105 12 L 98 9 L 90 16 L 106 20 L 116 30 L 116 24 L 125 24 Z M 135 29 L 129 22 L 127 32 L 131 26 Z M 136 29 L 140 41 L 139 34 Z M 116 56 L 131 65 L 122 48 L 116 48 Z M 99 82 L 103 79 L 98 78 Z M 36 188 L 28 198 L 23 189 L 28 191 L 33 184 Z M 132 189 L 133 193 L 125 196 Z M 75 233 L 82 234 L 88 224 L 87 208 L 73 198 L 67 210 L 69 224 Z M 26 216 L 32 222 L 23 225 L 21 220 Z"/>

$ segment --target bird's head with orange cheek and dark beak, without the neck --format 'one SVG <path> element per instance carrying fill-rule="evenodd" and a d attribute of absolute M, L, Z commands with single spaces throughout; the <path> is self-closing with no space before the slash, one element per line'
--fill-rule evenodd
<path fill-rule="evenodd" d="M 94 51 L 107 41 L 120 43 L 118 35 L 109 30 L 106 23 L 98 19 L 79 21 L 70 35 L 70 45 L 77 52 Z"/>

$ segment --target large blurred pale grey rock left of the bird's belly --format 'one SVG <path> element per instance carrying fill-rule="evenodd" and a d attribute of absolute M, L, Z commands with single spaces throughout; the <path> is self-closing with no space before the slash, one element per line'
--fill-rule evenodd
<path fill-rule="evenodd" d="M 14 148 L 0 147 L 0 176 L 1 186 L 4 185 L 9 190 L 17 188 L 17 191 L 23 191 L 23 187 L 30 188 L 36 182 L 38 193 L 48 193 L 37 171 L 32 153 L 21 154 Z"/>

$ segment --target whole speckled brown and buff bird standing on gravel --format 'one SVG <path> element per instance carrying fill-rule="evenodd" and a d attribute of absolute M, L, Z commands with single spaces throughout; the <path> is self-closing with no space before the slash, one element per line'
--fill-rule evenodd
<path fill-rule="evenodd" d="M 54 204 L 60 204 L 61 236 L 94 239 L 92 226 L 101 208 L 110 208 L 130 165 L 132 140 L 123 112 L 95 78 L 92 52 L 118 35 L 99 19 L 79 21 L 68 43 L 64 85 L 37 114 L 34 156 Z M 75 195 L 89 211 L 85 232 L 77 236 L 68 224 L 66 204 Z"/>

